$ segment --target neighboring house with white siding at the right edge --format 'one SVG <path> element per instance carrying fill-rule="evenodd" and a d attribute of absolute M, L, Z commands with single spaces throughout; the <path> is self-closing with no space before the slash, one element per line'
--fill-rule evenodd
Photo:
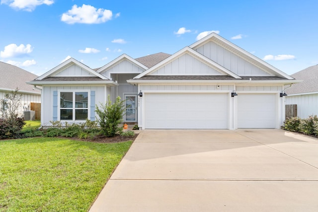
<path fill-rule="evenodd" d="M 298 71 L 291 76 L 304 81 L 285 88 L 288 94 L 285 97 L 285 104 L 296 104 L 297 116 L 303 119 L 318 115 L 318 65 Z"/>

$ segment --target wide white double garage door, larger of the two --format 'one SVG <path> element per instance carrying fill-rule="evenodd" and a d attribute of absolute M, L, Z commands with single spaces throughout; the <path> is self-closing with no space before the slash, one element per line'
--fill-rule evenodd
<path fill-rule="evenodd" d="M 146 93 L 145 128 L 228 129 L 228 95 L 227 93 Z"/>

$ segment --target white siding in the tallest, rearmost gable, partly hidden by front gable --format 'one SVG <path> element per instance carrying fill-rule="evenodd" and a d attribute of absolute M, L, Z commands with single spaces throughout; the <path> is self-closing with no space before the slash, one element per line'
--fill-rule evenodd
<path fill-rule="evenodd" d="M 212 41 L 195 49 L 198 53 L 210 58 L 212 61 L 224 66 L 226 69 L 239 76 L 264 76 L 270 75 L 248 61 L 242 59 L 237 54 L 225 49 Z"/>

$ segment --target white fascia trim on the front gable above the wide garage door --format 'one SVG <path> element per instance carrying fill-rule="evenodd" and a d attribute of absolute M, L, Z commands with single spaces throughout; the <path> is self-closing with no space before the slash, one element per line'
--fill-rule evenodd
<path fill-rule="evenodd" d="M 227 70 L 223 66 L 215 63 L 214 61 L 208 59 L 207 57 L 204 57 L 200 53 L 198 53 L 198 52 L 194 51 L 193 49 L 189 48 L 188 46 L 186 46 L 183 49 L 181 49 L 180 51 L 174 53 L 173 55 L 171 55 L 170 57 L 168 57 L 165 60 L 161 61 L 159 64 L 153 66 L 152 68 L 148 69 L 147 71 L 144 71 L 141 74 L 135 76 L 134 79 L 139 79 L 140 77 L 143 77 L 143 76 L 145 76 L 145 75 L 147 75 L 147 74 L 149 74 L 151 72 L 157 71 L 159 68 L 161 68 L 165 64 L 173 61 L 175 58 L 185 54 L 186 52 L 189 52 L 190 54 L 193 54 L 194 56 L 200 58 L 201 60 L 203 60 L 208 65 L 216 68 L 217 70 L 219 70 L 221 72 L 226 73 L 226 75 L 230 75 L 230 76 L 233 76 L 234 78 L 241 79 L 241 77 L 239 75 L 233 73 L 232 71 Z"/>

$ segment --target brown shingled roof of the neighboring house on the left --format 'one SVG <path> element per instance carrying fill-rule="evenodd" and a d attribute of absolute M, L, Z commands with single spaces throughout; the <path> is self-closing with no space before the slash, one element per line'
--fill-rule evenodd
<path fill-rule="evenodd" d="M 19 89 L 20 92 L 36 93 L 41 91 L 33 89 L 32 85 L 25 83 L 27 80 L 33 80 L 38 77 L 37 75 L 20 69 L 16 66 L 0 62 L 0 90 L 15 90 Z"/>

